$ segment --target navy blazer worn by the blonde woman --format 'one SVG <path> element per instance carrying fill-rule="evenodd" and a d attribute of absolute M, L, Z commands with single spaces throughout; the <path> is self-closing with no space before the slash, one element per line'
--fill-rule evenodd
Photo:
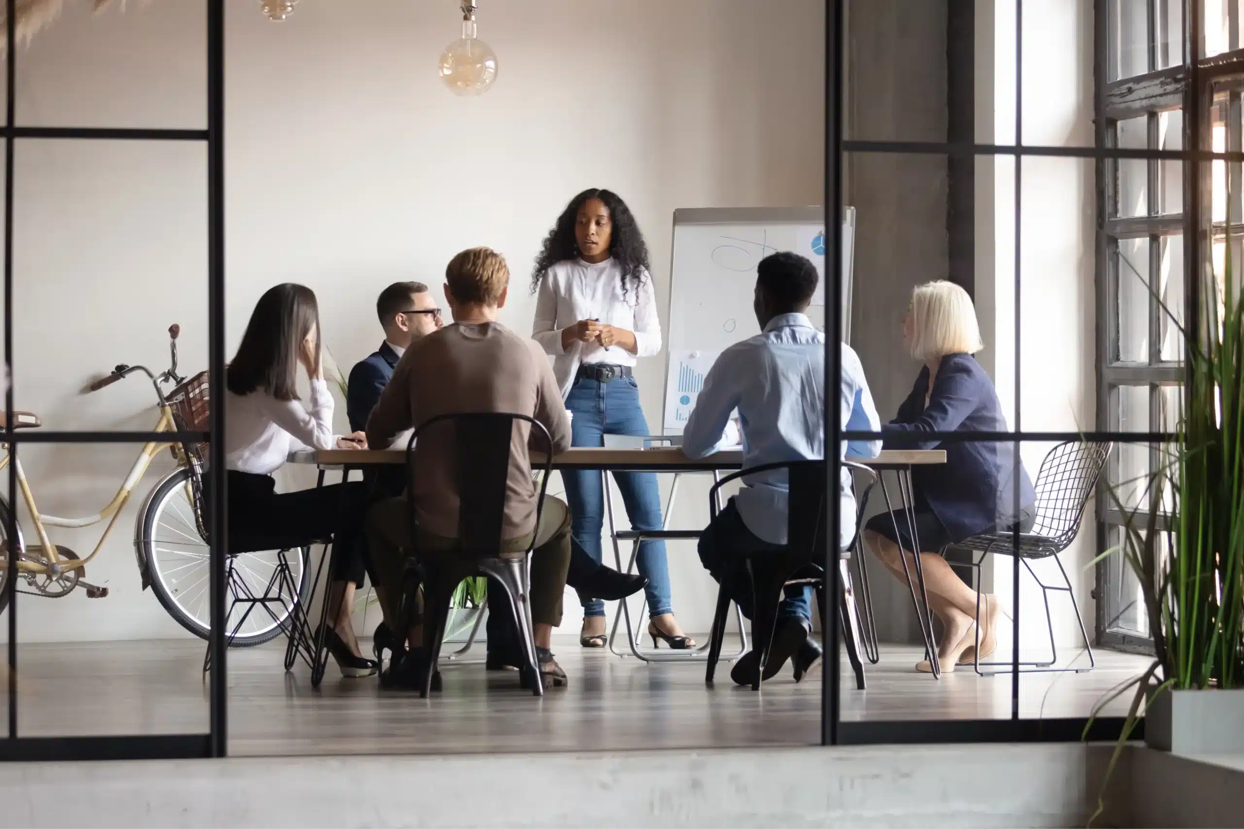
<path fill-rule="evenodd" d="M 882 427 L 887 449 L 945 449 L 944 464 L 912 468 L 919 495 L 945 527 L 950 538 L 965 538 L 993 528 L 1005 529 L 1034 514 L 1036 493 L 1019 466 L 1020 514 L 1015 514 L 1015 446 L 1009 442 L 949 441 L 922 438 L 924 432 L 1006 432 L 1006 418 L 994 383 L 974 357 L 950 354 L 942 357 L 933 393 L 926 408 L 929 370 L 921 370 L 912 393 L 898 407 L 898 416 Z"/>

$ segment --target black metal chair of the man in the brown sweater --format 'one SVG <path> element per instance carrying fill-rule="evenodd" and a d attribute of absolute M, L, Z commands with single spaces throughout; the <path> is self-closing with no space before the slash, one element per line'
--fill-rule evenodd
<path fill-rule="evenodd" d="M 466 578 L 474 575 L 493 576 L 505 591 L 508 606 L 514 614 L 519 644 L 522 646 L 527 663 L 522 667 L 522 682 L 530 685 L 535 696 L 544 696 L 544 681 L 540 676 L 540 663 L 536 658 L 534 626 L 531 622 L 531 551 L 535 549 L 536 535 L 526 550 L 519 553 L 501 551 L 501 520 L 505 510 L 506 480 L 509 478 L 511 438 L 515 427 L 526 422 L 531 428 L 529 446 L 534 441 L 537 449 L 544 451 L 544 475 L 536 500 L 536 527 L 544 512 L 545 489 L 552 473 L 552 438 L 549 431 L 535 418 L 511 413 L 468 413 L 442 415 L 420 424 L 407 443 L 407 499 L 411 522 L 412 551 L 415 560 L 415 573 L 422 578 L 424 590 L 423 645 L 429 656 L 428 673 L 424 677 L 420 697 L 432 691 L 437 662 L 440 656 L 440 644 L 445 635 L 449 617 L 449 605 L 454 589 Z M 432 436 L 433 427 L 440 427 Z M 452 427 L 452 433 L 448 431 Z M 457 447 L 457 484 L 459 497 L 458 540 L 460 546 L 447 554 L 420 554 L 415 539 L 414 487 L 411 485 L 418 473 L 414 464 L 414 446 L 424 439 L 453 441 Z M 409 586 L 409 584 L 408 584 Z M 413 590 L 403 591 L 402 615 L 409 619 L 413 604 Z M 500 602 L 490 596 L 490 606 L 496 610 Z"/>

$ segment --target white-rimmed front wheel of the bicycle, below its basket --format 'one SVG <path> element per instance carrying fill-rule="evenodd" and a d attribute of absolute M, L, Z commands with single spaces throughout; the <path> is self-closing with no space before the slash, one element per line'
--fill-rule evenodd
<path fill-rule="evenodd" d="M 189 479 L 189 469 L 183 467 L 156 485 L 139 522 L 141 534 L 136 541 L 147 561 L 152 591 L 160 605 L 182 627 L 207 639 L 211 632 L 210 555 L 194 520 Z M 282 553 L 290 568 L 287 579 L 276 576 Z M 260 645 L 281 632 L 281 625 L 309 591 L 309 548 L 230 556 L 225 585 L 225 609 L 229 611 L 225 634 L 233 637 L 234 647 Z M 280 601 L 245 602 L 264 595 Z"/>

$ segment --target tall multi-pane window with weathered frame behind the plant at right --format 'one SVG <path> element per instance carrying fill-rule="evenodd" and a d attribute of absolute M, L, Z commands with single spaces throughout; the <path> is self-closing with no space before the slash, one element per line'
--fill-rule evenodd
<path fill-rule="evenodd" d="M 1106 7 L 1096 42 L 1105 85 L 1097 116 L 1106 146 L 1240 152 L 1242 0 L 1101 2 Z M 1237 271 L 1242 261 L 1240 172 L 1238 161 L 1140 157 L 1101 163 L 1098 423 L 1106 428 L 1174 431 L 1182 326 L 1195 301 L 1188 289 L 1198 273 L 1202 284 L 1222 285 L 1228 261 L 1237 263 Z M 1123 444 L 1113 454 L 1111 483 L 1128 508 L 1147 508 L 1144 480 L 1161 463 L 1159 444 Z M 1103 541 L 1117 544 L 1123 513 L 1103 498 L 1098 515 Z M 1157 527 L 1164 528 L 1161 515 Z M 1103 644 L 1148 640 L 1138 586 L 1121 556 L 1101 565 L 1097 622 Z"/>

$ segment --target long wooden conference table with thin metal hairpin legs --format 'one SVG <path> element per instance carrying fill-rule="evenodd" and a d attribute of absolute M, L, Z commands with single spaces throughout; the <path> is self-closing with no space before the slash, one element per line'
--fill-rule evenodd
<path fill-rule="evenodd" d="M 351 469 L 363 469 L 366 467 L 378 467 L 378 466 L 394 466 L 406 463 L 406 451 L 404 449 L 320 449 L 320 451 L 304 451 L 295 452 L 290 456 L 290 462 L 292 463 L 313 463 L 321 468 L 321 482 L 323 479 L 322 471 L 326 467 L 341 468 L 343 469 L 343 475 L 348 474 Z M 532 467 L 542 466 L 545 456 L 540 452 L 531 453 Z M 913 504 L 913 485 L 912 485 L 912 468 L 917 466 L 939 464 L 945 463 L 945 451 L 944 449 L 886 449 L 876 458 L 856 458 L 847 457 L 846 461 L 851 463 L 858 463 L 861 466 L 868 467 L 877 473 L 877 480 L 881 483 L 882 494 L 886 499 L 886 507 L 888 510 L 894 512 L 896 509 L 902 509 L 908 520 L 908 532 L 917 541 L 918 536 L 916 533 L 916 517 L 912 512 Z M 648 447 L 648 448 L 613 448 L 613 447 L 576 447 L 561 452 L 552 458 L 554 469 L 600 469 L 602 472 L 666 472 L 666 473 L 687 473 L 687 472 L 729 472 L 743 468 L 743 451 L 741 449 L 728 449 L 724 452 L 718 452 L 710 454 L 707 458 L 693 459 L 688 458 L 682 448 L 679 447 Z M 886 478 L 883 472 L 893 472 L 898 479 L 899 488 L 899 503 L 896 503 L 889 497 L 889 489 L 886 485 Z M 608 502 L 608 519 L 610 519 L 610 535 L 613 538 L 613 551 L 617 568 L 622 569 L 621 553 L 618 550 L 618 533 L 613 527 L 613 510 L 612 510 L 612 498 L 608 493 L 608 477 L 606 475 L 606 499 Z M 668 507 L 667 507 L 668 515 Z M 897 518 L 894 519 L 896 532 Z M 638 544 L 636 545 L 638 546 Z M 634 556 L 632 555 L 632 564 Z M 933 637 L 933 621 L 929 615 L 928 596 L 924 590 L 924 574 L 921 568 L 919 556 L 914 558 L 916 565 L 916 580 L 913 581 L 911 574 L 908 574 L 908 586 L 911 588 L 912 604 L 916 607 L 916 615 L 921 622 L 921 634 L 924 639 L 924 649 L 929 662 L 933 666 L 933 676 L 937 677 L 940 673 L 940 666 L 937 661 L 937 644 Z M 904 561 L 906 566 L 906 561 Z M 629 566 L 627 568 L 629 570 Z M 919 591 L 917 591 L 916 585 L 919 585 Z M 626 611 L 626 602 L 622 602 L 621 611 Z M 637 647 L 636 631 L 631 626 L 629 612 L 626 611 L 627 627 L 631 629 L 631 651 L 634 656 L 642 660 L 651 661 L 651 655 L 643 655 Z M 613 630 L 617 631 L 618 620 L 615 620 Z M 741 617 L 740 617 L 741 627 Z M 611 636 L 611 640 L 613 636 Z M 612 642 L 611 642 L 612 649 Z M 615 652 L 617 652 L 615 650 Z M 673 656 L 673 655 L 671 655 Z"/>

